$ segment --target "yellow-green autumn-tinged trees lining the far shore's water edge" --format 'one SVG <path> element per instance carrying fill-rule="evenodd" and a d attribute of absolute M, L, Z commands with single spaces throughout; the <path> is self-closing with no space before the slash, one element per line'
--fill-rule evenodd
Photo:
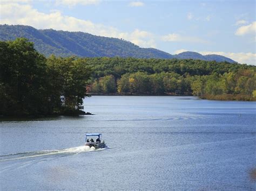
<path fill-rule="evenodd" d="M 100 77 L 91 84 L 96 94 L 124 95 L 196 95 L 217 100 L 255 100 L 256 75 L 252 69 L 210 75 L 177 73 L 124 74 L 117 81 L 113 75 Z"/>

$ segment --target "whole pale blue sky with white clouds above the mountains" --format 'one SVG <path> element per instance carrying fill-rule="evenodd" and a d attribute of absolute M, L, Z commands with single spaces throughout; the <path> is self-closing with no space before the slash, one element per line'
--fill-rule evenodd
<path fill-rule="evenodd" d="M 1 0 L 0 24 L 82 31 L 256 65 L 255 1 Z"/>

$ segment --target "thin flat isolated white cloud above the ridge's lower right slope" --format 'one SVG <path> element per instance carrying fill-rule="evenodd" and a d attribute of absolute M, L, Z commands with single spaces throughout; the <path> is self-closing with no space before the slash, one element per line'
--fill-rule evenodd
<path fill-rule="evenodd" d="M 161 40 L 186 42 L 186 43 L 203 43 L 203 44 L 208 43 L 208 41 L 206 41 L 204 39 L 200 39 L 198 37 L 182 36 L 181 34 L 178 34 L 178 33 L 167 34 L 167 35 L 161 37 Z"/>

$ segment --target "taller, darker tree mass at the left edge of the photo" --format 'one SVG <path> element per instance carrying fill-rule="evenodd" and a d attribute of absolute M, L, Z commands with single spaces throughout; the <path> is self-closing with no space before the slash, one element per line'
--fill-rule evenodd
<path fill-rule="evenodd" d="M 45 58 L 25 38 L 0 43 L 1 113 L 46 114 Z"/>

